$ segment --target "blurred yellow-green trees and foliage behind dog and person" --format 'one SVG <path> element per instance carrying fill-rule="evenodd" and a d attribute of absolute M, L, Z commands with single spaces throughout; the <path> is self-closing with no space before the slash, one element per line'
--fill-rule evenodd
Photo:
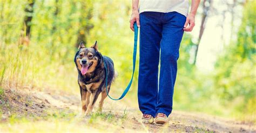
<path fill-rule="evenodd" d="M 255 1 L 201 2 L 198 32 L 185 33 L 180 46 L 173 108 L 255 121 L 255 9 Z M 114 60 L 119 74 L 111 90 L 118 97 L 132 72 L 130 13 L 130 1 L 1 0 L 1 86 L 79 94 L 73 56 L 80 41 L 89 47 L 98 40 L 99 51 Z M 201 38 L 209 34 L 204 31 L 207 19 L 214 17 L 220 18 L 216 25 L 223 29 L 223 41 L 213 71 L 204 72 L 196 65 L 197 52 Z M 228 18 L 231 23 L 225 23 Z M 132 88 L 123 100 L 129 106 L 137 106 L 137 78 L 138 60 Z"/>

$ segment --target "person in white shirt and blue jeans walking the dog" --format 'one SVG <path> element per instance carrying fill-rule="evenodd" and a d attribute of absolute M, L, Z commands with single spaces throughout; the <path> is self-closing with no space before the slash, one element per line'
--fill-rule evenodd
<path fill-rule="evenodd" d="M 134 31 L 134 22 L 140 27 L 138 102 L 145 123 L 155 117 L 157 124 L 164 124 L 172 112 L 179 46 L 184 31 L 193 30 L 199 3 L 192 0 L 188 14 L 188 0 L 132 1 L 130 28 Z"/>

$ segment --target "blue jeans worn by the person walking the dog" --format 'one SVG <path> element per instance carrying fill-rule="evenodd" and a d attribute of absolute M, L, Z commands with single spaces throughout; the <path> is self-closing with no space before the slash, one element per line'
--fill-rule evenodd
<path fill-rule="evenodd" d="M 186 17 L 178 12 L 140 13 L 138 101 L 143 114 L 155 117 L 158 113 L 169 116 L 172 112 L 173 88 L 185 21 Z"/>

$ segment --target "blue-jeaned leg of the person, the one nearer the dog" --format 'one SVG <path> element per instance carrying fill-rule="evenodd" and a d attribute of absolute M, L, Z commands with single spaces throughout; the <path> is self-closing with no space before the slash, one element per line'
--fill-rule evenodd
<path fill-rule="evenodd" d="M 154 117 L 157 105 L 158 65 L 161 40 L 159 12 L 140 13 L 138 101 L 143 114 Z"/>

